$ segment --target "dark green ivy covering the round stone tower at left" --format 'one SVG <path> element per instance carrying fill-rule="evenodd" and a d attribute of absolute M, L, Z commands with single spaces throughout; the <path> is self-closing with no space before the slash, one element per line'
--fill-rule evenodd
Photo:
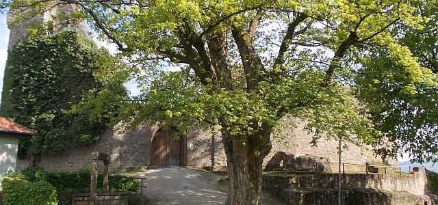
<path fill-rule="evenodd" d="M 71 112 L 88 90 L 99 90 L 93 71 L 110 54 L 83 33 L 30 36 L 8 54 L 0 115 L 38 131 L 22 141 L 18 157 L 56 154 L 99 139 L 105 122 Z"/>

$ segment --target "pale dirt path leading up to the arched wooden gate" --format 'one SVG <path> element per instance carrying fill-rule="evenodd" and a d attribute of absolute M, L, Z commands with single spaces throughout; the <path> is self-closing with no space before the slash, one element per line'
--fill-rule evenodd
<path fill-rule="evenodd" d="M 136 176 L 146 177 L 143 195 L 151 204 L 224 204 L 227 193 L 218 183 L 221 176 L 195 169 L 166 167 L 149 169 Z M 262 204 L 280 205 L 271 195 L 263 195 Z"/>

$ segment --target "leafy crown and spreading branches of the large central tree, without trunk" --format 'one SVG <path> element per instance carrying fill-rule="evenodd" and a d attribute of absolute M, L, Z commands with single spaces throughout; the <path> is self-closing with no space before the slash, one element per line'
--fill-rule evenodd
<path fill-rule="evenodd" d="M 38 2 L 38 1 L 36 1 Z M 34 3 L 36 3 L 34 2 Z M 418 15 L 419 9 L 430 10 L 433 3 L 420 1 L 60 1 L 75 3 L 83 16 L 94 22 L 101 37 L 114 42 L 123 55 L 133 62 L 142 62 L 140 74 L 143 95 L 134 105 L 141 123 L 150 119 L 166 122 L 201 120 L 219 124 L 229 131 L 257 130 L 263 123 L 273 126 L 286 113 L 309 120 L 321 132 L 344 135 L 361 133 L 369 141 L 389 137 L 372 113 L 376 107 L 367 95 L 365 81 L 378 80 L 375 72 L 366 71 L 367 59 L 380 69 L 393 73 L 394 69 L 378 63 L 376 51 L 384 51 L 388 59 L 407 72 L 397 79 L 408 98 L 415 98 L 423 86 L 435 86 L 433 69 L 423 67 L 403 42 L 404 30 L 433 32 L 428 16 Z M 435 3 L 436 4 L 436 3 Z M 47 7 L 46 7 L 47 8 Z M 429 11 L 434 12 L 434 11 Z M 435 11 L 436 12 L 436 11 Z M 435 40 L 436 42 L 436 40 Z M 433 46 L 433 42 L 428 42 Z M 436 53 L 436 51 L 435 51 Z M 420 54 L 419 54 L 420 55 Z M 431 54 L 428 56 L 435 56 Z M 391 64 L 392 64 L 391 63 Z M 430 64 L 430 62 L 428 62 Z M 152 70 L 160 66 L 181 68 L 187 81 L 175 81 L 166 74 L 154 79 Z M 366 73 L 366 74 L 365 74 Z M 144 76 L 146 74 L 146 76 Z M 363 75 L 365 74 L 365 77 Z M 183 79 L 183 77 L 178 77 Z M 155 89 L 154 83 L 167 81 L 175 85 Z M 179 84 L 178 84 L 179 83 Z M 174 90 L 169 90 L 167 88 Z M 383 87 L 376 87 L 377 90 Z M 364 91 L 365 90 L 365 91 Z M 170 96 L 166 93 L 169 92 Z M 175 92 L 180 92 L 174 95 Z M 190 94 L 188 94 L 190 92 Z M 161 96 L 153 100 L 155 96 Z M 164 100 L 166 99 L 166 100 Z M 173 99 L 173 100 L 170 100 Z M 226 99 L 231 99 L 224 101 Z M 387 99 L 389 102 L 394 99 Z M 350 103 L 355 102 L 355 103 Z M 384 103 L 384 102 L 380 102 Z M 324 113 L 331 105 L 337 111 Z M 335 108 L 338 106 L 338 108 Z M 372 105 L 372 107 L 368 107 Z M 151 108 L 154 109 L 151 109 Z M 235 109 L 234 107 L 240 107 Z M 348 107 L 350 111 L 342 109 Z M 359 113 L 359 107 L 364 113 Z M 239 111 L 243 109 L 248 112 Z M 137 112 L 138 111 L 138 112 Z M 162 111 L 162 114 L 157 113 Z M 341 113 L 339 113 L 341 112 Z M 385 112 L 385 111 L 381 111 Z M 133 112 L 125 111 L 132 115 Z M 167 114 L 166 114 L 167 113 Z M 170 115 L 169 113 L 177 113 Z M 306 115 L 315 113 L 315 115 Z M 316 114 L 318 113 L 318 114 Z M 331 123 L 345 115 L 342 125 Z M 368 116 L 358 118 L 353 116 Z M 350 116 L 350 117 L 348 117 Z M 123 118 L 123 117 L 122 117 Z M 222 119 L 216 121 L 216 119 Z M 363 119 L 350 121 L 351 118 Z M 139 120 L 140 119 L 140 120 Z M 174 119 L 174 120 L 169 120 Z M 225 120 L 227 119 L 227 120 Z M 236 123 L 235 119 L 244 122 Z M 245 120 L 246 119 L 246 120 Z M 176 121 L 175 121 L 176 120 Z M 239 121 L 237 120 L 237 121 Z M 400 120 L 403 120 L 400 116 Z M 175 122 L 174 122 L 175 121 Z M 325 121 L 325 122 L 324 122 Z M 318 123 L 317 123 L 318 122 Z M 346 126 L 349 122 L 355 122 Z M 338 123 L 338 124 L 339 124 Z M 245 125 L 244 125 L 245 124 Z M 318 125 L 319 124 L 319 125 Z M 325 125 L 324 125 L 325 124 Z M 369 130 L 357 130 L 361 127 Z M 366 125 L 366 126 L 365 126 Z M 373 130 L 374 128 L 374 130 Z M 400 128 L 398 128 L 400 129 Z M 416 127 L 415 131 L 421 129 Z M 319 132 L 319 131 L 318 131 Z M 368 133 L 368 134 L 367 134 Z M 339 132 L 337 134 L 339 135 Z M 393 137 L 389 137 L 393 139 Z M 415 136 L 415 135 L 414 135 Z M 337 136 L 335 136 L 337 137 Z M 415 138 L 415 137 L 414 137 Z M 431 141 L 429 141 L 431 142 Z M 402 142 L 403 143 L 403 142 Z M 409 141 L 404 141 L 409 143 Z M 384 151 L 384 150 L 382 150 Z M 412 150 L 407 150 L 408 152 Z M 412 152 L 411 152 L 412 153 Z M 413 154 L 413 153 L 412 153 Z M 422 158 L 421 154 L 416 156 Z"/>

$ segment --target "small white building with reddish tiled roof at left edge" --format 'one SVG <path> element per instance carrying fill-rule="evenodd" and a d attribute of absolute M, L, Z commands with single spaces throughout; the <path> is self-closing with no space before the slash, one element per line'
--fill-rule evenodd
<path fill-rule="evenodd" d="M 0 116 L 0 191 L 1 180 L 8 172 L 15 172 L 18 141 L 30 138 L 36 131 Z"/>

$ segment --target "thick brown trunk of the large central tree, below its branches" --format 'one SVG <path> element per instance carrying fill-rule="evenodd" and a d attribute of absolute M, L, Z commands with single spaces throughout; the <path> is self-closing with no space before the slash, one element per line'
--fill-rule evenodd
<path fill-rule="evenodd" d="M 229 174 L 227 205 L 259 205 L 264 157 L 270 152 L 270 129 L 252 136 L 222 131 Z"/>

